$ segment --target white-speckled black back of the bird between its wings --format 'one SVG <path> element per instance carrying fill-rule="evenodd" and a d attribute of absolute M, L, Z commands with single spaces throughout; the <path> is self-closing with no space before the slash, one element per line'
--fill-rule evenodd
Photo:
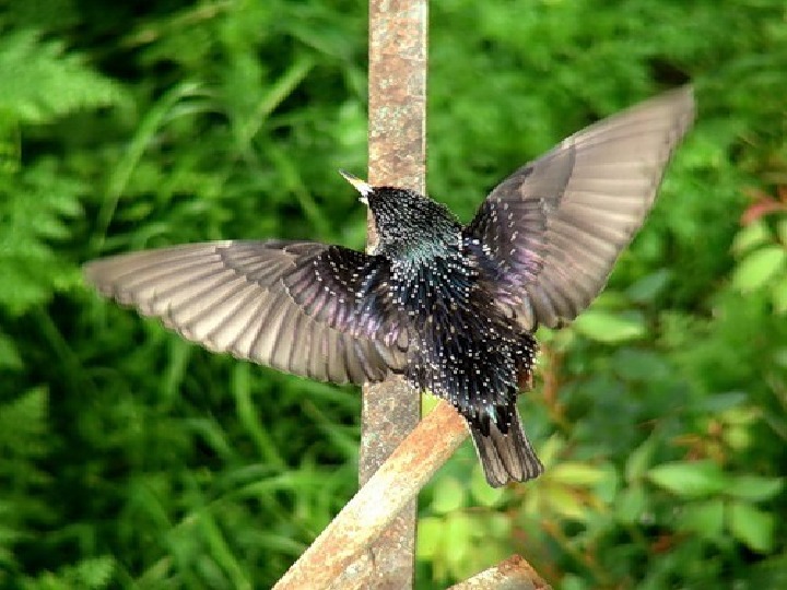
<path fill-rule="evenodd" d="M 531 371 L 536 342 L 495 304 L 484 287 L 488 272 L 465 244 L 455 244 L 418 262 L 393 262 L 391 293 L 413 334 L 411 385 L 505 432 L 506 409 L 518 377 Z"/>

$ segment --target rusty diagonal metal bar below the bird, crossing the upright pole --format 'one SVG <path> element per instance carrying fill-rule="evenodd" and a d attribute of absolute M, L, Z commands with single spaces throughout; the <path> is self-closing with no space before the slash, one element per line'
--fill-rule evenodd
<path fill-rule="evenodd" d="M 456 410 L 446 402 L 437 404 L 279 580 L 274 590 L 381 588 L 379 578 L 372 571 L 377 564 L 367 563 L 364 552 L 376 543 L 402 508 L 412 504 L 421 487 L 467 435 L 465 420 Z M 393 547 L 392 551 L 400 550 Z M 352 570 L 342 575 L 348 567 Z M 411 579 L 408 578 L 402 588 L 408 588 Z M 385 583 L 384 588 L 397 588 L 390 578 Z"/>

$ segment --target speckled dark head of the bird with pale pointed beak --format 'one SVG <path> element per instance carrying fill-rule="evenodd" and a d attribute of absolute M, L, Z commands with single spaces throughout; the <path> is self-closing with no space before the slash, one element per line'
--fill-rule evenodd
<path fill-rule="evenodd" d="M 461 225 L 444 204 L 414 190 L 373 187 L 345 172 L 341 175 L 355 187 L 361 193 L 359 200 L 372 211 L 379 251 L 431 255 L 458 241 Z"/>

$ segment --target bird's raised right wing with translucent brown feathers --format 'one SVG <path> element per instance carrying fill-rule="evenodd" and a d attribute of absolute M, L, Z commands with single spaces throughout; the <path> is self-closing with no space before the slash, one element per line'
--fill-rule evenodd
<path fill-rule="evenodd" d="M 690 87 L 599 121 L 498 185 L 466 228 L 525 327 L 574 319 L 650 211 L 694 118 Z"/>

